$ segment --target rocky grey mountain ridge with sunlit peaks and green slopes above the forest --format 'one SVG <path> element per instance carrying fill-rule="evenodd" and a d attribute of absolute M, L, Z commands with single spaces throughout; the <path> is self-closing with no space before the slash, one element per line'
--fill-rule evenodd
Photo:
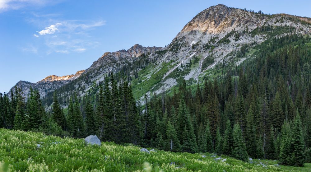
<path fill-rule="evenodd" d="M 201 83 L 224 68 L 254 58 L 256 45 L 273 38 L 310 34 L 310 21 L 307 17 L 267 15 L 218 4 L 194 16 L 164 48 L 136 44 L 128 50 L 106 52 L 77 79 L 58 81 L 59 77 L 50 76 L 45 80 L 53 82 L 40 81 L 42 87 L 35 88 L 40 88 L 45 105 L 51 104 L 55 89 L 66 105 L 74 92 L 82 97 L 91 91 L 96 93 L 98 83 L 113 72 L 118 81 L 125 76 L 132 84 L 134 97 L 142 99 L 144 94 L 171 91 L 182 78 L 190 85 Z M 31 84 L 20 81 L 17 85 L 28 88 Z"/>

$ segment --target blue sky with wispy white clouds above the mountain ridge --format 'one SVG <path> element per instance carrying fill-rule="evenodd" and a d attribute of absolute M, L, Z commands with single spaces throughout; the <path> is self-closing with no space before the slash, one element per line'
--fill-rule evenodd
<path fill-rule="evenodd" d="M 86 69 L 105 52 L 169 44 L 197 13 L 224 4 L 311 17 L 310 1 L 0 0 L 0 92 Z"/>

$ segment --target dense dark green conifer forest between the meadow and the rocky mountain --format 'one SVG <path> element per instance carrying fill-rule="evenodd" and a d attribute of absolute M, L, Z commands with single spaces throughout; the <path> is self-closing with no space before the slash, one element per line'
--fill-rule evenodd
<path fill-rule="evenodd" d="M 109 74 L 95 95 L 72 95 L 68 112 L 54 92 L 51 113 L 38 91 L 0 95 L 0 127 L 132 143 L 167 151 L 215 152 L 246 161 L 310 162 L 310 38 L 286 35 L 260 45 L 257 58 L 207 78 L 191 90 L 135 101 L 127 79 Z M 259 46 L 259 45 L 258 45 Z M 94 98 L 95 97 L 95 98 Z"/>

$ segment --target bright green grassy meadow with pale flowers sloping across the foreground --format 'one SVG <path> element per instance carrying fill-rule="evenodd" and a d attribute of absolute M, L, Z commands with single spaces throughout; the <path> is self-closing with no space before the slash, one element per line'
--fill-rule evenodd
<path fill-rule="evenodd" d="M 141 147 L 102 142 L 101 146 L 85 145 L 83 139 L 46 136 L 39 132 L 0 129 L 0 171 L 212 171 L 212 172 L 275 172 L 308 171 L 305 167 L 274 166 L 274 161 L 262 160 L 267 167 L 230 157 L 214 160 L 212 154 L 190 154 L 157 151 L 140 152 Z M 52 142 L 59 142 L 53 144 Z M 37 144 L 41 146 L 38 148 Z M 206 157 L 202 157 L 205 155 Z M 219 156 L 216 156 L 219 157 Z M 255 160 L 253 160 L 255 161 Z M 180 168 L 176 168 L 180 167 Z"/>

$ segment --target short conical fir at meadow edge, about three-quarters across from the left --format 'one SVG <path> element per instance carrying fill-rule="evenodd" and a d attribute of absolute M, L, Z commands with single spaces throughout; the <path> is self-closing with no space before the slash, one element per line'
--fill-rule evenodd
<path fill-rule="evenodd" d="M 239 124 L 234 124 L 233 127 L 233 151 L 232 156 L 236 159 L 247 161 L 248 154 L 244 139 L 242 137 L 242 130 Z"/>

